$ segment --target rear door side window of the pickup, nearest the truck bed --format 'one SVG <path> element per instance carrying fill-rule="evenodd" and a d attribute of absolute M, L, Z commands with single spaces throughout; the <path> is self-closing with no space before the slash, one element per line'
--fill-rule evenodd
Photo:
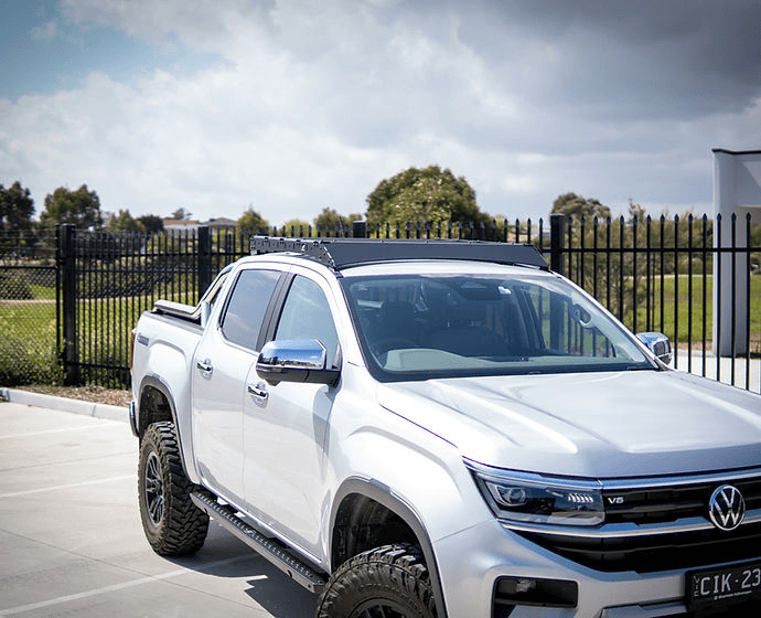
<path fill-rule="evenodd" d="M 222 318 L 225 339 L 257 349 L 261 321 L 279 278 L 280 273 L 274 270 L 243 270 L 238 275 Z"/>

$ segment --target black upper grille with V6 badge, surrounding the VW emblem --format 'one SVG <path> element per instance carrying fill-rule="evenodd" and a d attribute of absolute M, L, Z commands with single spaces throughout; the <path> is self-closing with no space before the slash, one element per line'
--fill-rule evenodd
<path fill-rule="evenodd" d="M 705 518 L 714 490 L 724 484 L 704 481 L 694 484 L 605 489 L 602 500 L 607 523 L 666 523 L 680 518 Z M 748 510 L 761 509 L 761 478 L 731 480 L 746 499 Z"/>

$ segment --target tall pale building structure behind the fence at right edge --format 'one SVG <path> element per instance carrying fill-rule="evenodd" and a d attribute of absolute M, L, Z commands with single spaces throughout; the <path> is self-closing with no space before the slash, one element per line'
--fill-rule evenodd
<path fill-rule="evenodd" d="M 721 234 L 714 231 L 714 246 L 732 246 L 732 214 L 737 215 L 735 243 L 747 246 L 747 214 L 752 223 L 761 223 L 761 150 L 733 152 L 714 149 L 714 214 L 721 214 Z M 718 356 L 732 355 L 732 315 L 735 316 L 735 354 L 747 352 L 748 340 L 748 262 L 738 254 L 732 271 L 732 255 L 714 259 L 714 353 Z M 719 285 L 720 279 L 720 285 Z M 736 296 L 732 299 L 732 281 Z M 720 319 L 717 317 L 720 313 Z M 721 341 L 717 341 L 717 329 L 721 327 Z M 718 343 L 718 345 L 717 345 Z"/>

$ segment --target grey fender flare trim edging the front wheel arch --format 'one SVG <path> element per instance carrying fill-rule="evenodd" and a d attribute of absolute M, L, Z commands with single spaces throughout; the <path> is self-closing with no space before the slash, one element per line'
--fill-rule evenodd
<path fill-rule="evenodd" d="M 341 483 L 335 492 L 335 499 L 333 500 L 333 508 L 331 511 L 331 534 L 329 537 L 331 546 L 329 548 L 329 556 L 333 555 L 332 531 L 335 526 L 339 507 L 343 503 L 344 499 L 351 494 L 358 494 L 378 502 L 399 516 L 399 519 L 401 519 L 410 528 L 417 537 L 418 543 L 420 544 L 420 550 L 422 551 L 422 555 L 426 558 L 426 565 L 428 566 L 428 572 L 431 578 L 431 587 L 433 588 L 433 595 L 436 598 L 436 609 L 438 616 L 439 618 L 447 618 L 447 607 L 443 598 L 443 588 L 441 587 L 441 577 L 439 576 L 439 566 L 436 561 L 433 544 L 428 535 L 428 531 L 426 530 L 422 520 L 417 514 L 415 509 L 401 498 L 396 496 L 388 486 L 382 483 L 380 481 L 377 481 L 376 479 L 350 477 Z M 332 566 L 335 567 L 337 565 Z"/>

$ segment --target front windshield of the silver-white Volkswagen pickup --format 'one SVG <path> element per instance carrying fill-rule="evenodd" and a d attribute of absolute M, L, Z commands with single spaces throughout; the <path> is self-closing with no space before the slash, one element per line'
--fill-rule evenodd
<path fill-rule="evenodd" d="M 655 369 L 576 287 L 525 275 L 342 279 L 371 372 L 382 381 Z"/>

